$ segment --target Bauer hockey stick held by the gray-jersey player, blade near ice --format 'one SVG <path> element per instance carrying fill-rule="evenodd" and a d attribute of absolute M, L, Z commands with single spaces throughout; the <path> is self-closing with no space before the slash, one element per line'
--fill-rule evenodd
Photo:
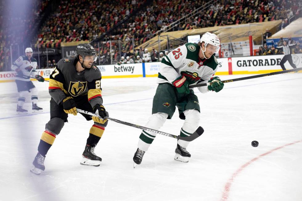
<path fill-rule="evenodd" d="M 88 112 L 88 111 L 85 111 L 85 110 L 81 110 L 81 109 L 76 109 L 76 111 L 78 111 L 80 113 L 83 113 L 83 114 L 86 114 L 86 115 L 90 115 L 90 116 L 98 116 L 97 114 L 94 114 L 92 112 Z M 121 120 L 113 119 L 113 118 L 110 118 L 110 117 L 106 117 L 106 118 L 111 120 L 111 121 L 114 121 L 116 123 L 124 124 L 126 126 L 135 127 L 135 128 L 138 128 L 138 129 L 149 131 L 151 133 L 161 134 L 161 135 L 165 135 L 165 136 L 168 136 L 168 137 L 171 137 L 171 138 L 181 139 L 181 140 L 188 141 L 188 142 L 198 138 L 204 132 L 202 127 L 198 127 L 198 129 L 192 135 L 190 135 L 188 137 L 180 137 L 180 136 L 177 136 L 177 135 L 172 135 L 172 134 L 169 134 L 169 133 L 153 130 L 151 128 L 139 126 L 139 125 L 136 125 L 136 124 L 133 124 L 133 123 L 128 123 L 128 122 L 124 122 L 124 121 L 121 121 Z"/>

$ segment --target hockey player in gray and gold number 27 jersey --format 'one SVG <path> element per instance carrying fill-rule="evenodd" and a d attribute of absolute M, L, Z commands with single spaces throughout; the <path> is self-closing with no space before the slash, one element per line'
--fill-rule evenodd
<path fill-rule="evenodd" d="M 49 94 L 50 120 L 45 125 L 34 159 L 31 172 L 41 174 L 45 170 L 44 159 L 56 137 L 67 122 L 68 114 L 77 115 L 76 109 L 98 114 L 84 118 L 94 123 L 82 154 L 81 165 L 100 166 L 102 159 L 94 153 L 96 144 L 101 139 L 107 126 L 108 112 L 103 106 L 101 72 L 93 64 L 96 61 L 96 50 L 90 44 L 79 44 L 76 48 L 76 58 L 63 58 L 50 75 Z M 81 126 L 81 125 L 79 125 Z M 72 137 L 72 136 L 71 136 Z"/>

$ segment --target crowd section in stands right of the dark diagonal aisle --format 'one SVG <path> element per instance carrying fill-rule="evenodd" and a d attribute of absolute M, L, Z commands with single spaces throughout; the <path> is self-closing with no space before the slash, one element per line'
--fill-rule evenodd
<path fill-rule="evenodd" d="M 117 28 L 106 39 L 120 39 L 128 42 L 123 46 L 123 49 L 128 52 L 131 50 L 129 40 L 132 37 L 134 46 L 140 45 L 153 38 L 156 33 L 165 31 L 165 28 L 171 23 L 206 5 L 206 2 L 208 1 L 153 1 L 152 5 L 138 12 L 127 24 Z M 266 22 L 279 19 L 283 19 L 280 28 L 284 28 L 288 25 L 288 20 L 294 15 L 301 16 L 301 6 L 299 7 L 298 0 L 222 1 L 222 3 L 210 5 L 208 9 L 200 11 L 193 18 L 187 17 L 174 30 Z"/>

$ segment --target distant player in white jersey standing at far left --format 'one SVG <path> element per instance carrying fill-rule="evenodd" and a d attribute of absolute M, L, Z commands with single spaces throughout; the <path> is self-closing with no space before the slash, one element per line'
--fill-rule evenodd
<path fill-rule="evenodd" d="M 30 47 L 25 49 L 25 56 L 20 56 L 11 66 L 11 69 L 16 71 L 15 82 L 19 92 L 17 113 L 27 114 L 27 110 L 23 108 L 25 97 L 28 92 L 31 92 L 32 112 L 42 112 L 43 109 L 37 106 L 38 90 L 31 82 L 30 77 L 34 76 L 39 82 L 44 82 L 44 78 L 38 75 L 35 71 L 37 60 L 32 57 L 33 51 Z"/>

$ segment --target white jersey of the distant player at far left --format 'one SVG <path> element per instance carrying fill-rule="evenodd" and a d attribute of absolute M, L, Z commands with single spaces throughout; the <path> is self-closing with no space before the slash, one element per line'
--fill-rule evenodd
<path fill-rule="evenodd" d="M 14 63 L 11 65 L 12 70 L 16 70 L 17 68 L 21 69 L 23 75 L 17 75 L 16 79 L 22 81 L 30 81 L 30 76 L 35 77 L 38 73 L 35 72 L 34 69 L 37 68 L 37 60 L 35 58 L 31 58 L 30 60 L 27 56 L 20 56 Z M 34 71 L 33 71 L 34 70 Z"/>

